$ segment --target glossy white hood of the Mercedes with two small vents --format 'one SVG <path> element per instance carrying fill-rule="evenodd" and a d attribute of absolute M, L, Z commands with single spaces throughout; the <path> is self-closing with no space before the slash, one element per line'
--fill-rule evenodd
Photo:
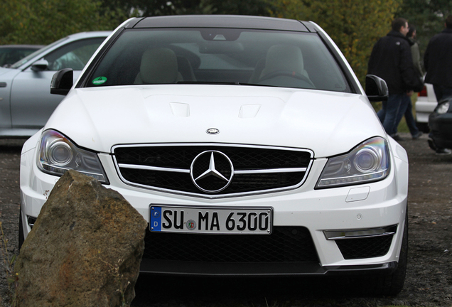
<path fill-rule="evenodd" d="M 386 136 L 362 95 L 233 85 L 75 89 L 45 129 L 99 152 L 117 144 L 222 143 L 311 149 L 316 157 Z"/>

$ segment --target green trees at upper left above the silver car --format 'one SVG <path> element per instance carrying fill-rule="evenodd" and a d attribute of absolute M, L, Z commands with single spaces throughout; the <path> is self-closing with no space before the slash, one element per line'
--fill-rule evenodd
<path fill-rule="evenodd" d="M 99 7 L 92 0 L 2 0 L 0 44 L 48 44 L 72 33 L 118 26 L 115 17 L 121 13 L 99 14 Z"/>

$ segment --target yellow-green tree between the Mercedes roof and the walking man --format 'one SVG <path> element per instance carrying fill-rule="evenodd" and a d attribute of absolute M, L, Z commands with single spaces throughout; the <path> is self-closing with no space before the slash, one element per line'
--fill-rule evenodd
<path fill-rule="evenodd" d="M 363 83 L 377 40 L 391 30 L 402 0 L 275 0 L 273 16 L 318 23 L 338 45 Z"/>

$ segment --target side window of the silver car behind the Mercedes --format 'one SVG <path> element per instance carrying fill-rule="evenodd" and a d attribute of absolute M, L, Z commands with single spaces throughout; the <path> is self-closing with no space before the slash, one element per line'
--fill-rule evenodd
<path fill-rule="evenodd" d="M 44 58 L 48 61 L 48 70 L 61 70 L 72 68 L 82 70 L 91 55 L 105 38 L 87 38 L 81 41 L 68 43 L 63 47 L 49 53 Z"/>

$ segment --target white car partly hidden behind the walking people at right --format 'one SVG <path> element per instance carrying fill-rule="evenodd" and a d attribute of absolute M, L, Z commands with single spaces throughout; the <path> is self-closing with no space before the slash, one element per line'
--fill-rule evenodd
<path fill-rule="evenodd" d="M 421 131 L 429 131 L 429 115 L 438 105 L 433 85 L 426 83 L 424 89 L 418 93 L 416 100 L 416 124 Z"/>

